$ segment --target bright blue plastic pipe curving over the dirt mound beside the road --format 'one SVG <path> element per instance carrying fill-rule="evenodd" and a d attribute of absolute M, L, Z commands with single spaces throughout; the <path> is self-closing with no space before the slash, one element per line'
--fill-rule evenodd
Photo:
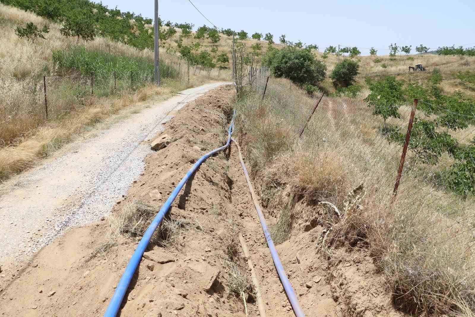
<path fill-rule="evenodd" d="M 234 125 L 235 115 L 236 115 L 236 111 L 234 111 L 231 124 L 229 125 L 228 142 L 226 142 L 226 144 L 224 144 L 223 146 L 201 156 L 201 158 L 190 168 L 190 170 L 186 173 L 186 175 L 181 179 L 180 183 L 178 183 L 177 187 L 173 190 L 173 192 L 171 192 L 167 201 L 163 204 L 160 211 L 155 216 L 150 226 L 147 228 L 147 231 L 145 231 L 145 233 L 143 234 L 142 239 L 137 245 L 137 249 L 135 249 L 135 251 L 133 252 L 132 258 L 130 259 L 129 264 L 127 264 L 127 267 L 125 268 L 125 271 L 123 272 L 122 278 L 117 284 L 117 288 L 115 288 L 114 296 L 111 298 L 111 301 L 109 302 L 109 306 L 107 306 L 107 310 L 104 313 L 104 317 L 115 317 L 117 315 L 117 312 L 120 309 L 123 297 L 125 296 L 125 293 L 127 291 L 127 288 L 129 287 L 130 281 L 132 280 L 133 273 L 135 273 L 135 270 L 137 269 L 137 266 L 139 265 L 140 260 L 142 259 L 143 252 L 145 252 L 145 249 L 147 248 L 147 245 L 150 239 L 152 238 L 153 232 L 155 232 L 155 230 L 158 228 L 159 224 L 163 220 L 163 217 L 165 216 L 167 211 L 170 209 L 171 204 L 173 203 L 175 198 L 178 196 L 178 193 L 181 191 L 181 188 L 183 188 L 183 185 L 185 185 L 185 183 L 188 181 L 190 176 L 196 172 L 199 165 L 201 165 L 201 163 L 203 163 L 209 156 L 221 150 L 224 150 L 229 146 L 229 142 L 231 141 L 231 134 L 232 134 L 232 129 Z"/>

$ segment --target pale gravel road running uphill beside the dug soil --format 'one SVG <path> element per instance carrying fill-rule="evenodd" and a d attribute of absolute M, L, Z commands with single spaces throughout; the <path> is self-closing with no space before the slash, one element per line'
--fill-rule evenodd
<path fill-rule="evenodd" d="M 12 179 L 17 186 L 0 196 L 0 264 L 29 259 L 64 230 L 107 215 L 143 171 L 151 150 L 141 142 L 163 130 L 171 111 L 223 84 L 187 89 L 144 108 Z"/>

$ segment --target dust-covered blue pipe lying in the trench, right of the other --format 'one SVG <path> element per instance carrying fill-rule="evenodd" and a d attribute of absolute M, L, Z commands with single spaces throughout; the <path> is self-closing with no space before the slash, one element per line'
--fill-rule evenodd
<path fill-rule="evenodd" d="M 246 177 L 247 186 L 249 187 L 249 192 L 251 192 L 252 202 L 254 202 L 254 206 L 256 207 L 257 215 L 259 216 L 259 220 L 261 221 L 262 231 L 264 231 L 264 236 L 266 237 L 267 246 L 269 247 L 270 254 L 272 255 L 272 259 L 274 260 L 274 265 L 276 266 L 277 274 L 279 274 L 280 281 L 282 282 L 282 286 L 284 287 L 285 293 L 289 298 L 290 304 L 292 305 L 292 309 L 294 309 L 294 314 L 296 317 L 305 317 L 304 311 L 302 307 L 300 307 L 300 303 L 295 295 L 294 288 L 290 285 L 290 281 L 287 278 L 287 274 L 285 273 L 284 267 L 280 262 L 279 255 L 277 254 L 276 246 L 274 245 L 274 241 L 270 237 L 269 230 L 267 228 L 266 219 L 264 218 L 264 214 L 262 213 L 261 207 L 259 206 L 259 202 L 257 201 L 256 193 L 252 188 L 251 180 L 249 179 L 249 174 L 247 174 L 246 164 L 242 159 L 241 148 L 236 140 L 232 139 L 233 142 L 237 146 L 237 151 L 239 152 L 239 161 L 241 161 L 242 169 L 244 171 L 244 176 Z"/>

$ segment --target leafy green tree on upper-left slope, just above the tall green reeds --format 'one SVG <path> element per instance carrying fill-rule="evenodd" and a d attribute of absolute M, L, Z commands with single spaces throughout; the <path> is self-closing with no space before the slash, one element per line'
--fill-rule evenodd
<path fill-rule="evenodd" d="M 75 10 L 66 17 L 66 21 L 59 32 L 66 37 L 76 37 L 76 43 L 79 38 L 92 41 L 95 38 L 95 21 L 92 13 L 84 10 Z"/>

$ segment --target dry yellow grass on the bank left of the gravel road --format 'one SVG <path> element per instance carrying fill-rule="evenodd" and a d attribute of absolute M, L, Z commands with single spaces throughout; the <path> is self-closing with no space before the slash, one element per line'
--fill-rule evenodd
<path fill-rule="evenodd" d="M 80 134 L 84 126 L 104 120 L 124 107 L 151 96 L 170 96 L 205 82 L 229 80 L 230 76 L 221 72 L 218 78 L 218 70 L 215 69 L 210 76 L 205 72 L 202 76 L 191 74 L 188 82 L 185 67 L 181 65 L 181 77 L 164 79 L 160 88 L 148 85 L 136 91 L 125 89 L 106 97 L 83 96 L 84 89 L 76 88 L 76 82 L 82 78 L 75 74 L 70 77 L 54 75 L 52 51 L 76 42 L 60 35 L 60 25 L 1 3 L 0 21 L 0 181 L 35 165 Z M 33 44 L 15 35 L 15 27 L 29 21 L 38 27 L 49 25 L 46 40 L 39 39 Z M 81 44 L 90 49 L 153 60 L 150 49 L 138 50 L 106 38 L 95 38 Z M 179 66 L 177 56 L 164 50 L 161 51 L 161 61 Z M 48 75 L 48 119 L 44 109 L 43 75 Z M 107 91 L 110 87 L 95 89 Z"/>

